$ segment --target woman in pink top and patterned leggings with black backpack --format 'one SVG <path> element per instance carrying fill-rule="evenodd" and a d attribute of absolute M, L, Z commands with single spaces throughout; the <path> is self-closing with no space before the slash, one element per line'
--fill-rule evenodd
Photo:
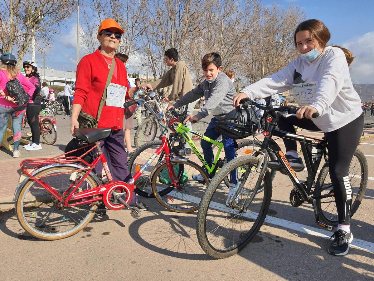
<path fill-rule="evenodd" d="M 24 90 L 30 96 L 35 91 L 35 86 L 31 83 L 19 69 L 16 67 L 17 59 L 14 55 L 4 53 L 0 57 L 0 141 L 2 141 L 9 116 L 12 115 L 13 126 L 13 157 L 19 157 L 19 143 L 21 141 L 21 122 L 22 117 L 26 112 L 26 104 L 18 106 L 15 103 L 15 98 L 8 95 L 6 90 L 6 83 L 17 78 Z"/>

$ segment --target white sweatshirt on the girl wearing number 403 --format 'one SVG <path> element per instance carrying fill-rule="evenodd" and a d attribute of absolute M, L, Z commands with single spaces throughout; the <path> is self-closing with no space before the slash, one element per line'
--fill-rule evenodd
<path fill-rule="evenodd" d="M 340 48 L 326 47 L 313 62 L 300 57 L 278 73 L 273 73 L 244 88 L 251 100 L 293 91 L 300 106 L 317 109 L 312 118 L 323 132 L 335 131 L 362 113 L 361 100 L 353 88 L 346 56 Z"/>

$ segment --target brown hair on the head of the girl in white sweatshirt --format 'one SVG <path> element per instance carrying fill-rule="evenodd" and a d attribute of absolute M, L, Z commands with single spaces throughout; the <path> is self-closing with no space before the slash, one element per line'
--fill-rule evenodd
<path fill-rule="evenodd" d="M 309 30 L 312 33 L 313 39 L 317 40 L 319 46 L 322 48 L 326 47 L 328 40 L 330 40 L 331 34 L 326 25 L 319 19 L 308 19 L 301 22 L 295 30 L 294 33 L 294 44 L 296 44 L 296 33 L 303 30 Z"/>

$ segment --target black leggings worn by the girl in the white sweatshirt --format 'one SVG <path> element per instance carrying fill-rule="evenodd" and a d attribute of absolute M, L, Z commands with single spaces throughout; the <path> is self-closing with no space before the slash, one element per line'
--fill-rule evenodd
<path fill-rule="evenodd" d="M 282 131 L 295 133 L 294 126 L 303 129 L 320 131 L 310 119 L 297 119 L 292 116 L 281 118 L 278 127 Z M 364 114 L 347 125 L 325 133 L 327 136 L 329 174 L 334 186 L 335 203 L 338 212 L 338 222 L 349 225 L 350 206 L 352 204 L 352 188 L 349 182 L 349 165 L 358 146 L 364 128 Z M 286 151 L 297 150 L 296 141 L 283 138 Z M 347 196 L 348 195 L 348 196 Z"/>

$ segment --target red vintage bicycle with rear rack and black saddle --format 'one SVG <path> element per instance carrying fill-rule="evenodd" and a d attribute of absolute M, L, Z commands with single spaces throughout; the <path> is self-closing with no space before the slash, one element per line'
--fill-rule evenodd
<path fill-rule="evenodd" d="M 136 102 L 142 104 L 145 100 L 139 99 Z M 130 105 L 124 104 L 125 107 Z M 76 137 L 86 145 L 54 158 L 26 159 L 21 162 L 22 174 L 14 201 L 17 219 L 28 233 L 45 240 L 69 237 L 91 221 L 101 204 L 114 211 L 127 207 L 134 218 L 140 217 L 140 210 L 129 205 L 136 188 L 134 183 L 161 152 L 165 152 L 165 159 L 157 164 L 153 173 L 153 177 L 163 183 L 159 193 L 170 193 L 170 200 L 185 212 L 197 209 L 199 202 L 190 201 L 188 198 L 195 197 L 189 194 L 197 188 L 203 192 L 206 183 L 193 180 L 192 174 L 201 172 L 208 182 L 206 173 L 186 158 L 171 159 L 165 134 L 167 125 L 161 122 L 162 110 L 157 114 L 147 103 L 145 106 L 157 117 L 160 128 L 164 130 L 161 135 L 162 145 L 128 183 L 113 181 L 99 145 L 99 140 L 110 134 L 110 128 L 77 129 Z M 79 157 L 68 156 L 79 150 L 84 152 Z M 99 161 L 104 167 L 104 179 L 101 172 L 96 174 L 94 170 Z M 191 193 L 187 194 L 188 190 Z"/>

